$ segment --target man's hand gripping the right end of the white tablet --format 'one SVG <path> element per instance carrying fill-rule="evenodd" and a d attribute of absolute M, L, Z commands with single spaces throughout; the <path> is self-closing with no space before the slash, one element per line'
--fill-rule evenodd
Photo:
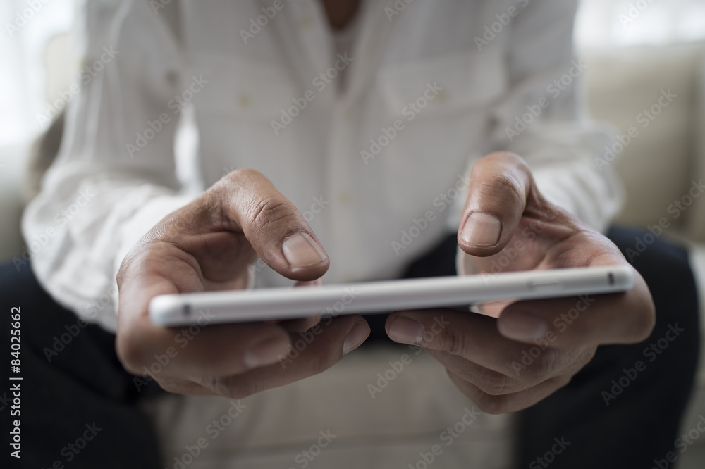
<path fill-rule="evenodd" d="M 525 161 L 507 153 L 474 166 L 458 244 L 488 274 L 629 265 L 606 237 L 548 203 Z M 446 309 L 394 313 L 386 331 L 396 342 L 424 347 L 484 411 L 517 411 L 568 384 L 598 345 L 649 337 L 654 304 L 636 271 L 635 277 L 629 292 L 517 301 L 503 305 L 498 319 Z M 529 360 L 532 347 L 541 353 L 532 351 Z"/>

